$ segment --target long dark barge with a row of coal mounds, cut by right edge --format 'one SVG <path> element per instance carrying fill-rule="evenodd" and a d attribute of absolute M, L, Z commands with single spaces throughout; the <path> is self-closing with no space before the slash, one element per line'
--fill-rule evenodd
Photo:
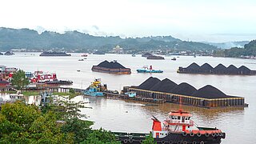
<path fill-rule="evenodd" d="M 230 65 L 228 67 L 218 64 L 218 66 L 212 67 L 208 63 L 198 66 L 197 63 L 192 63 L 187 67 L 178 67 L 177 73 L 181 74 L 230 74 L 230 75 L 255 75 L 256 70 L 250 70 L 246 66 L 240 66 L 239 68 Z"/>

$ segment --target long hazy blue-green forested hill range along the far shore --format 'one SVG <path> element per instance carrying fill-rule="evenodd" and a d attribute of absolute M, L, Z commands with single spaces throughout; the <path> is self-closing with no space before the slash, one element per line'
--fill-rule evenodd
<path fill-rule="evenodd" d="M 157 36 L 144 38 L 120 38 L 118 36 L 99 37 L 80 33 L 76 30 L 59 34 L 44 31 L 38 34 L 36 30 L 0 28 L 0 50 L 17 48 L 50 50 L 52 48 L 64 48 L 66 50 L 110 50 L 119 45 L 126 50 L 214 50 L 201 42 L 186 42 L 171 36 Z"/>

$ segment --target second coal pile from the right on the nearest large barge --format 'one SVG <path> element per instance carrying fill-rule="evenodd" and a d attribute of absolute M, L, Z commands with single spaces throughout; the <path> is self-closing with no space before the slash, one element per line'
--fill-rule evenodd
<path fill-rule="evenodd" d="M 192 95 L 197 89 L 186 82 L 180 83 L 170 91 L 172 94 Z"/>

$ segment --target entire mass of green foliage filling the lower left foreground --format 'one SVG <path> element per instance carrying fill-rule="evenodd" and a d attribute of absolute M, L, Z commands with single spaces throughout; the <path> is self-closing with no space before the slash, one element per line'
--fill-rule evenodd
<path fill-rule="evenodd" d="M 91 130 L 93 122 L 79 119 L 82 103 L 59 101 L 44 106 L 6 103 L 0 111 L 1 143 L 120 143 L 106 130 Z M 58 122 L 58 120 L 64 120 Z"/>

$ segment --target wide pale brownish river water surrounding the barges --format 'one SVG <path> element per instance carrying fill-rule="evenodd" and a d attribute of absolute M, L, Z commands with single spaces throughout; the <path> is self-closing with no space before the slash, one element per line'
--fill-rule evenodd
<path fill-rule="evenodd" d="M 147 60 L 141 55 L 132 57 L 130 54 L 90 54 L 85 61 L 81 54 L 72 54 L 71 57 L 39 57 L 39 53 L 16 53 L 12 56 L 0 56 L 0 65 L 17 67 L 25 71 L 43 70 L 56 72 L 62 80 L 72 80 L 75 88 L 86 88 L 94 78 L 101 78 L 110 90 L 122 90 L 122 86 L 138 86 L 150 76 L 181 83 L 187 82 L 198 88 L 208 84 L 217 87 L 225 94 L 237 95 L 246 98 L 249 107 L 233 107 L 204 109 L 194 106 L 183 106 L 183 110 L 190 111 L 194 122 L 198 126 L 217 127 L 226 132 L 226 139 L 222 143 L 255 143 L 256 138 L 256 76 L 208 75 L 208 74 L 177 74 L 178 66 L 189 66 L 192 62 L 202 65 L 208 62 L 211 66 L 222 63 L 225 66 L 247 66 L 256 70 L 256 60 L 239 58 L 212 58 L 180 56 L 176 61 L 173 57 L 165 60 Z M 117 75 L 91 71 L 93 65 L 104 60 L 117 60 L 123 66 L 129 67 L 132 74 Z M 136 69 L 152 65 L 156 70 L 163 70 L 162 74 L 138 74 Z M 77 70 L 80 70 L 78 72 Z M 166 118 L 170 110 L 178 110 L 178 105 L 165 103 L 158 106 L 145 106 L 143 102 L 124 100 L 90 98 L 78 96 L 76 101 L 90 102 L 87 106 L 93 109 L 82 109 L 88 120 L 94 121 L 93 128 L 104 128 L 112 131 L 148 133 L 152 125 L 152 115 L 160 121 Z"/>

